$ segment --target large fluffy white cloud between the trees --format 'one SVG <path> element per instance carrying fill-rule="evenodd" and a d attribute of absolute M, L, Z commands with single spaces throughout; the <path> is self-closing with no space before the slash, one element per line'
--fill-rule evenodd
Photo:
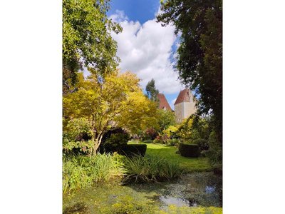
<path fill-rule="evenodd" d="M 156 19 L 144 24 L 129 21 L 123 11 L 116 11 L 110 18 L 123 27 L 122 33 L 112 34 L 118 42 L 121 71 L 136 73 L 142 79 L 142 88 L 154 78 L 160 92 L 179 92 L 182 85 L 170 62 L 171 47 L 176 41 L 175 27 L 162 27 Z"/>

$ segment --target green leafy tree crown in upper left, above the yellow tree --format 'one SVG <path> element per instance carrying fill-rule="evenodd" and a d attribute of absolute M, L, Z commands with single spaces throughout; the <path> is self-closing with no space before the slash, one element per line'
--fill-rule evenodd
<path fill-rule="evenodd" d="M 98 76 L 115 70 L 117 44 L 110 36 L 122 31 L 108 19 L 110 0 L 63 0 L 63 93 L 83 66 Z"/>

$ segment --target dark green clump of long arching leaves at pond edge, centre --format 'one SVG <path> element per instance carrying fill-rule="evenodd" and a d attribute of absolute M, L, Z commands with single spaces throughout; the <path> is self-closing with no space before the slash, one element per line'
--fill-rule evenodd
<path fill-rule="evenodd" d="M 170 180 L 181 175 L 178 163 L 167 161 L 161 156 L 134 156 L 125 159 L 124 183 L 156 182 Z"/>

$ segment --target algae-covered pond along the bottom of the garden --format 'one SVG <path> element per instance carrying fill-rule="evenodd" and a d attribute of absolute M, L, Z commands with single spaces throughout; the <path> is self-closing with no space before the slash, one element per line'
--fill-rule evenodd
<path fill-rule="evenodd" d="M 178 208 L 222 207 L 222 177 L 213 173 L 191 173 L 172 182 L 100 184 L 63 196 L 63 213 L 167 212 L 170 205 Z"/>

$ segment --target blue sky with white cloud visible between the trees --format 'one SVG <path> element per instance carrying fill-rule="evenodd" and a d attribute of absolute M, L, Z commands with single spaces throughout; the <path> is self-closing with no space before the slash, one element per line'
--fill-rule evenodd
<path fill-rule="evenodd" d="M 112 34 L 118 43 L 120 71 L 136 73 L 143 89 L 153 78 L 174 109 L 175 99 L 184 89 L 172 67 L 177 36 L 174 26 L 162 27 L 156 22 L 159 11 L 160 0 L 111 0 L 108 16 L 123 27 L 122 33 Z"/>

